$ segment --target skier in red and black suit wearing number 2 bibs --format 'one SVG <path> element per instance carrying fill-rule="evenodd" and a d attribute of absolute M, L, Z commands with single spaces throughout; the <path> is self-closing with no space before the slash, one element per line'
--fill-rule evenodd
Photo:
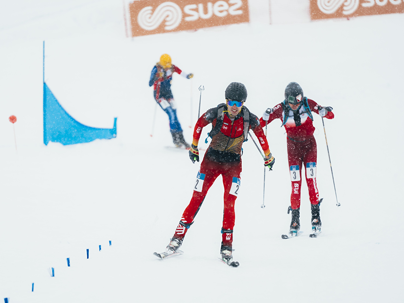
<path fill-rule="evenodd" d="M 205 153 L 194 185 L 194 194 L 185 209 L 166 252 L 174 253 L 181 246 L 188 228 L 194 223 L 206 193 L 219 175 L 222 175 L 224 193 L 224 211 L 221 256 L 230 263 L 232 260 L 233 227 L 235 221 L 234 204 L 240 190 L 241 146 L 252 130 L 259 139 L 265 153 L 264 165 L 272 169 L 275 163 L 268 147 L 259 119 L 243 106 L 247 98 L 244 84 L 232 82 L 225 90 L 226 104 L 221 103 L 204 113 L 195 125 L 194 139 L 189 150 L 192 163 L 199 162 L 198 142 L 202 128 L 212 123 L 209 136 L 212 142 Z"/>

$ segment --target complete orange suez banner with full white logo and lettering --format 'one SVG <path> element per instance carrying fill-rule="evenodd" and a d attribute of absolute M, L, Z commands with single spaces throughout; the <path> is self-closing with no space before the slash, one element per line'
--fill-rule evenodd
<path fill-rule="evenodd" d="M 141 0 L 129 12 L 132 37 L 250 20 L 247 0 Z"/>

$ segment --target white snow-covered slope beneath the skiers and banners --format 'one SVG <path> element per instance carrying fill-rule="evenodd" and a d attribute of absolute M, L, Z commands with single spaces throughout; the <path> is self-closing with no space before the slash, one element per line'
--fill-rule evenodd
<path fill-rule="evenodd" d="M 123 15 L 122 2 L 112 0 L 2 3 L 0 299 L 402 302 L 404 15 L 250 23 L 134 39 L 125 37 Z M 45 81 L 56 98 L 85 125 L 112 127 L 118 117 L 115 139 L 43 144 L 43 40 Z M 191 81 L 175 75 L 172 86 L 189 142 L 201 84 L 202 112 L 223 102 L 231 81 L 246 85 L 245 105 L 259 117 L 283 100 L 290 81 L 334 108 L 335 119 L 324 122 L 341 206 L 315 115 L 324 198 L 318 238 L 309 238 L 303 180 L 303 234 L 281 239 L 290 224 L 290 176 L 286 135 L 276 120 L 268 125 L 276 164 L 266 174 L 265 209 L 261 156 L 251 140 L 243 145 L 233 242 L 240 267 L 218 259 L 220 178 L 185 237 L 185 253 L 163 261 L 152 255 L 173 236 L 199 169 L 186 151 L 166 148 L 173 143 L 160 108 L 150 136 L 156 105 L 147 83 L 164 52 L 195 74 Z M 10 115 L 17 116 L 17 152 Z M 207 147 L 209 129 L 200 148 Z"/>

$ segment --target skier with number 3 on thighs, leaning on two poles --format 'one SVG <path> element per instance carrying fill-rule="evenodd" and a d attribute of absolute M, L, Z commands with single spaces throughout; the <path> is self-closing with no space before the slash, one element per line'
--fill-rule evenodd
<path fill-rule="evenodd" d="M 303 90 L 296 82 L 290 82 L 285 89 L 285 100 L 269 108 L 260 119 L 261 126 L 274 119 L 280 119 L 287 134 L 288 160 L 292 194 L 290 205 L 292 222 L 289 236 L 297 236 L 300 229 L 300 190 L 302 163 L 305 167 L 306 183 L 311 203 L 311 226 L 314 233 L 321 231 L 320 204 L 316 185 L 317 144 L 314 139 L 313 114 L 333 119 L 332 107 L 320 107 L 315 101 L 303 96 Z M 289 211 L 288 211 L 289 213 Z"/>

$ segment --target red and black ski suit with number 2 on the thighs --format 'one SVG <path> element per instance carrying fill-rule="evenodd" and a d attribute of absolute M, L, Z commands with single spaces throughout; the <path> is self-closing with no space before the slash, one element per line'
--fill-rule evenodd
<path fill-rule="evenodd" d="M 225 107 L 224 111 L 227 111 L 227 107 Z M 223 112 L 223 115 L 221 115 L 223 124 L 220 131 L 213 136 L 212 142 L 210 142 L 208 150 L 206 150 L 195 182 L 194 194 L 181 217 L 181 221 L 173 236 L 174 238 L 180 238 L 181 240 L 184 238 L 189 226 L 194 223 L 194 218 L 210 186 L 212 186 L 219 175 L 222 175 L 225 192 L 223 196 L 224 209 L 221 233 L 223 245 L 231 247 L 235 222 L 234 204 L 240 189 L 241 146 L 244 141 L 244 111 L 248 111 L 248 109 L 242 107 L 242 110 L 234 121 L 231 121 L 227 112 Z M 259 138 L 265 155 L 269 155 L 268 142 L 259 124 L 258 117 L 252 113 L 249 113 L 249 115 L 248 129 L 251 129 L 257 138 Z M 217 119 L 220 119 L 217 116 L 218 107 L 209 109 L 198 119 L 194 128 L 194 140 L 192 144 L 198 146 L 204 126 L 212 123 L 212 126 L 215 127 Z"/>

